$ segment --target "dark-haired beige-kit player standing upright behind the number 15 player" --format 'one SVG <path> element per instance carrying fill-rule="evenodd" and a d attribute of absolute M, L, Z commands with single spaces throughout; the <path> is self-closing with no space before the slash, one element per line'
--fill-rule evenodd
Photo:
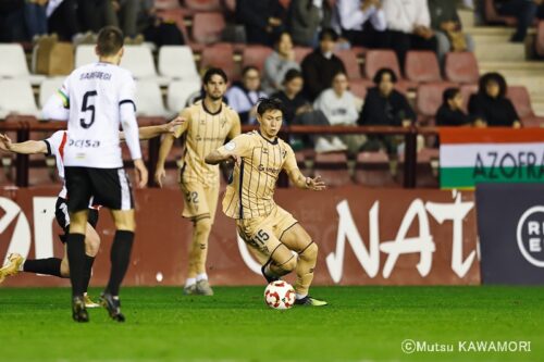
<path fill-rule="evenodd" d="M 164 137 L 159 152 L 156 180 L 162 184 L 164 162 L 175 138 L 185 135 L 185 151 L 180 172 L 180 187 L 184 195 L 183 217 L 193 222 L 193 242 L 189 246 L 189 266 L 184 287 L 185 295 L 211 296 L 206 258 L 219 199 L 219 166 L 205 162 L 206 155 L 240 133 L 238 114 L 223 102 L 226 74 L 210 68 L 203 76 L 206 92 L 201 101 L 182 111 L 187 122 L 173 136 Z"/>

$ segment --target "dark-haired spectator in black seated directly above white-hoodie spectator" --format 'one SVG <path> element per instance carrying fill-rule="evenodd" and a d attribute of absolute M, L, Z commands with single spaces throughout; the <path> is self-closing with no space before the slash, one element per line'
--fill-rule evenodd
<path fill-rule="evenodd" d="M 305 93 L 310 101 L 314 101 L 324 89 L 331 87 L 333 77 L 338 72 L 346 72 L 342 60 L 333 53 L 337 39 L 338 35 L 333 29 L 321 30 L 319 47 L 302 61 Z"/>

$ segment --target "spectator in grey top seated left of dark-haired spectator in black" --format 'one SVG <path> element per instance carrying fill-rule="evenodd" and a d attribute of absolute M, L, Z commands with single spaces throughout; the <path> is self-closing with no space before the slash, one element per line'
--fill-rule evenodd
<path fill-rule="evenodd" d="M 300 65 L 295 61 L 289 33 L 283 32 L 275 42 L 275 51 L 264 61 L 262 89 L 269 95 L 279 90 L 289 70 L 300 70 Z"/>

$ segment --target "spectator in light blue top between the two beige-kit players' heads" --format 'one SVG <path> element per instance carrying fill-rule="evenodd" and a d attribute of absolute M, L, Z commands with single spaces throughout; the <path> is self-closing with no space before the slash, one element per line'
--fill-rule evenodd
<path fill-rule="evenodd" d="M 255 124 L 259 98 L 267 97 L 261 90 L 261 75 L 256 66 L 248 65 L 242 71 L 242 83 L 234 83 L 226 91 L 228 105 L 239 114 L 242 124 Z"/>

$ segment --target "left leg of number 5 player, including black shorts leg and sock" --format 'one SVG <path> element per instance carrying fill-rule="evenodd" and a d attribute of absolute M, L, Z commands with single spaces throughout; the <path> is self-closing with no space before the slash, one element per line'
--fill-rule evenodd
<path fill-rule="evenodd" d="M 66 189 L 70 195 L 70 233 L 66 237 L 70 280 L 72 283 L 72 316 L 76 322 L 87 322 L 85 310 L 85 233 L 91 184 L 85 167 L 65 167 Z"/>

